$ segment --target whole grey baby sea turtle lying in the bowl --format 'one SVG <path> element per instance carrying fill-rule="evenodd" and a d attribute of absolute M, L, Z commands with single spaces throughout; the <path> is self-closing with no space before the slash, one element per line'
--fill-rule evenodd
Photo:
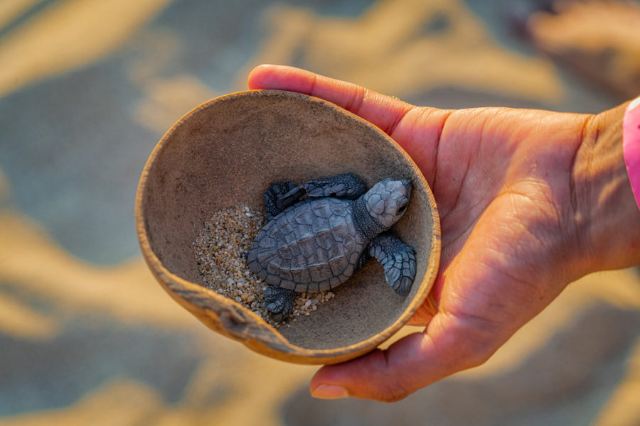
<path fill-rule="evenodd" d="M 411 186 L 385 179 L 367 191 L 352 174 L 271 185 L 263 196 L 268 222 L 247 263 L 269 284 L 264 294 L 272 318 L 289 315 L 297 292 L 334 289 L 372 257 L 395 292 L 407 295 L 415 252 L 388 229 L 404 214 Z"/>

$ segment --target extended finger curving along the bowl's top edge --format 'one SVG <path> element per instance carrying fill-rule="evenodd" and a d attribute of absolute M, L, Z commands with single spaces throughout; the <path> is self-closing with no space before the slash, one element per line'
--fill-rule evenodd
<path fill-rule="evenodd" d="M 357 84 L 284 65 L 260 65 L 249 74 L 250 89 L 280 89 L 325 99 L 375 124 L 388 135 L 415 107 Z"/>

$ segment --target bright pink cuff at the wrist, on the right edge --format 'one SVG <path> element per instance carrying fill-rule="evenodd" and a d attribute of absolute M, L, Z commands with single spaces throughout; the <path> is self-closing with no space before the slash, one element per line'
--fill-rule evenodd
<path fill-rule="evenodd" d="M 622 122 L 622 150 L 626 173 L 629 173 L 631 190 L 640 208 L 640 97 L 637 97 L 624 112 Z"/>

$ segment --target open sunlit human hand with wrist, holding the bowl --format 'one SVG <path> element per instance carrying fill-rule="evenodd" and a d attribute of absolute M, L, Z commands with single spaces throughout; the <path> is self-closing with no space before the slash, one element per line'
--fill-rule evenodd
<path fill-rule="evenodd" d="M 274 65 L 252 70 L 248 84 L 311 94 L 375 124 L 415 160 L 438 205 L 442 256 L 432 304 L 410 321 L 424 332 L 322 367 L 311 380 L 316 397 L 405 398 L 483 364 L 572 280 L 640 261 L 619 109 L 594 116 L 415 107 Z"/>

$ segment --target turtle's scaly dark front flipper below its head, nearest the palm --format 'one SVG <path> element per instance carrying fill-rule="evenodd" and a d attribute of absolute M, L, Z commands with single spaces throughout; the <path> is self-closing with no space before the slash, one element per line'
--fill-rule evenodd
<path fill-rule="evenodd" d="M 385 278 L 395 293 L 409 294 L 415 278 L 415 251 L 397 236 L 383 232 L 371 242 L 369 254 L 385 268 Z"/>

